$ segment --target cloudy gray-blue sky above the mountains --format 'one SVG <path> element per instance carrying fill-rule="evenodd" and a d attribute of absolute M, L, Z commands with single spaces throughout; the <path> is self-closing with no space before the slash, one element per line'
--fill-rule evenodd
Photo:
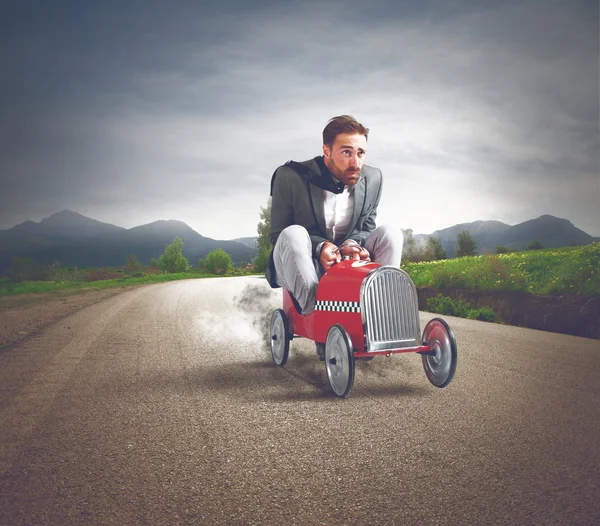
<path fill-rule="evenodd" d="M 275 168 L 351 114 L 380 224 L 600 236 L 597 0 L 2 5 L 0 228 L 70 209 L 254 236 Z"/>

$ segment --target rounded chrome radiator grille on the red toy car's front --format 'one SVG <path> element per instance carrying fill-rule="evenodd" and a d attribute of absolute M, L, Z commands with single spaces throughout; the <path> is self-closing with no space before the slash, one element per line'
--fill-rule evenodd
<path fill-rule="evenodd" d="M 379 267 L 363 281 L 360 305 L 367 351 L 421 344 L 417 290 L 406 272 Z"/>

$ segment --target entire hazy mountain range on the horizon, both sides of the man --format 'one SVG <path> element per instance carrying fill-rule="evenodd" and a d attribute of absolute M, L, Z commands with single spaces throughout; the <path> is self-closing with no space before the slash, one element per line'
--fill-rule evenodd
<path fill-rule="evenodd" d="M 534 240 L 547 248 L 600 241 L 569 220 L 549 214 L 513 226 L 494 220 L 460 223 L 413 237 L 418 243 L 426 243 L 430 236 L 437 237 L 448 257 L 453 257 L 456 238 L 462 230 L 471 234 L 480 253 L 494 252 L 498 245 L 522 250 Z M 42 264 L 59 261 L 69 267 L 99 267 L 122 265 L 128 254 L 135 254 L 141 263 L 149 264 L 175 237 L 183 239 L 183 253 L 192 264 L 216 248 L 228 252 L 237 264 L 249 262 L 256 255 L 257 237 L 212 239 L 175 219 L 127 229 L 63 210 L 37 223 L 28 220 L 0 230 L 0 271 L 10 265 L 14 256 L 29 257 Z"/>

